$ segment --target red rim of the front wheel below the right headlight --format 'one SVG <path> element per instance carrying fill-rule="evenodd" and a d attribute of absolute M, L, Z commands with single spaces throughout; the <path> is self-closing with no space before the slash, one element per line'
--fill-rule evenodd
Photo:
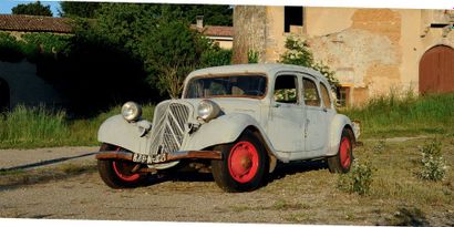
<path fill-rule="evenodd" d="M 258 152 L 251 143 L 238 142 L 228 156 L 230 176 L 239 183 L 250 182 L 258 172 Z"/>

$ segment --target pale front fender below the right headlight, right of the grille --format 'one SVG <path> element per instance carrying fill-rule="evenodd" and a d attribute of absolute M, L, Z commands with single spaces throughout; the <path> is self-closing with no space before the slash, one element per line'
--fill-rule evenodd
<path fill-rule="evenodd" d="M 188 137 L 184 149 L 200 151 L 209 146 L 235 142 L 248 126 L 258 128 L 261 135 L 265 135 L 259 123 L 247 114 L 234 113 L 219 116 L 200 125 L 200 128 Z"/>

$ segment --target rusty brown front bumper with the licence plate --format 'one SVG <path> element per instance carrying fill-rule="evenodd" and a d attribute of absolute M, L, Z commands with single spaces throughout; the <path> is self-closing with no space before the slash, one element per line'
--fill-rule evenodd
<path fill-rule="evenodd" d="M 101 151 L 96 154 L 96 159 L 124 159 L 141 164 L 161 164 L 179 159 L 223 159 L 219 151 L 179 151 L 172 154 L 144 155 L 125 151 Z"/>

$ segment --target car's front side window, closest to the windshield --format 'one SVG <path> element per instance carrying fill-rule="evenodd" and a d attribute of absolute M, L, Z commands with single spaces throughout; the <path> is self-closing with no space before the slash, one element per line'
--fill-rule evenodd
<path fill-rule="evenodd" d="M 298 79 L 296 75 L 279 75 L 275 83 L 275 101 L 298 103 Z"/>

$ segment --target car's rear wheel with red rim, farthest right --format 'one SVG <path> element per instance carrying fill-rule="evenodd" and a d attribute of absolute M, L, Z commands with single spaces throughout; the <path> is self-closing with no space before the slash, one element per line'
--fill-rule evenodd
<path fill-rule="evenodd" d="M 338 154 L 328 157 L 328 168 L 331 173 L 348 173 L 353 163 L 353 132 L 347 127 L 342 130 Z"/>

